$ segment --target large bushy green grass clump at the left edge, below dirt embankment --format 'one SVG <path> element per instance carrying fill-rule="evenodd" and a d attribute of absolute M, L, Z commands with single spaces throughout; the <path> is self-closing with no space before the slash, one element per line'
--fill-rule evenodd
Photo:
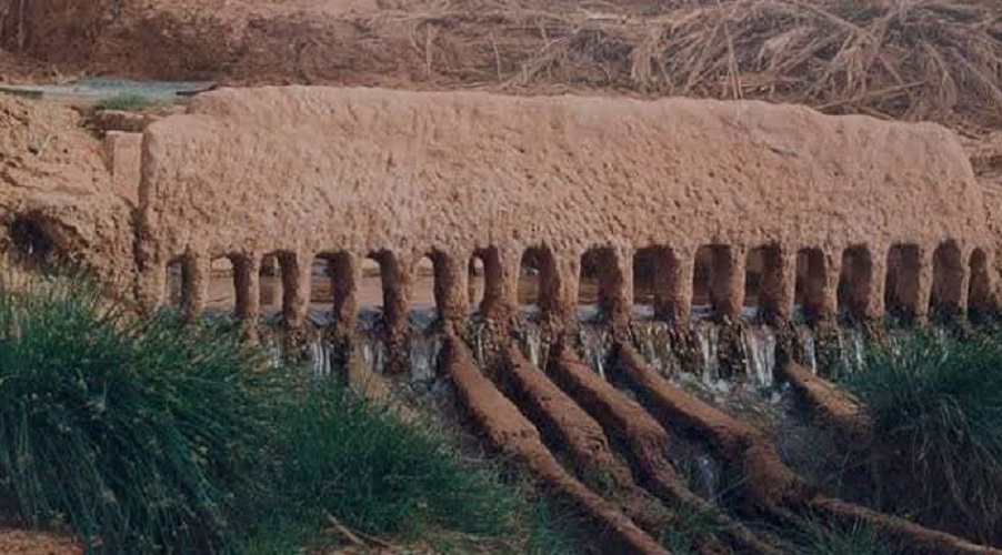
<path fill-rule="evenodd" d="M 0 490 L 88 552 L 214 551 L 280 383 L 234 335 L 0 283 Z"/>

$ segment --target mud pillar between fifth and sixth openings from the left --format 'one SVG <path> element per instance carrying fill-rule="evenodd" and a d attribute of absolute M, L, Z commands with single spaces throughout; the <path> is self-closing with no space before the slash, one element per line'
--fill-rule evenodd
<path fill-rule="evenodd" d="M 383 317 L 387 329 L 387 372 L 405 374 L 410 369 L 408 357 L 408 311 L 414 287 L 420 258 L 398 258 L 388 251 L 378 254 L 383 276 Z"/>

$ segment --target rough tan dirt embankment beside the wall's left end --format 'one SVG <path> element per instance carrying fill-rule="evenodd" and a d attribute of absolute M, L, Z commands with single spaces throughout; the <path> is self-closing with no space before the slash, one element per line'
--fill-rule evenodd
<path fill-rule="evenodd" d="M 102 144 L 63 105 L 0 97 L 0 242 L 71 253 L 100 278 L 131 282 L 131 201 L 114 192 Z"/>

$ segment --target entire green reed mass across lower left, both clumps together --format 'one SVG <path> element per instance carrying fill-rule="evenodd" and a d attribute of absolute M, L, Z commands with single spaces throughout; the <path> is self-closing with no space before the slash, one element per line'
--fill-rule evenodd
<path fill-rule="evenodd" d="M 88 553 L 291 554 L 332 519 L 575 545 L 527 492 L 442 432 L 270 367 L 226 321 L 138 316 L 82 280 L 0 280 L 0 497 Z"/>

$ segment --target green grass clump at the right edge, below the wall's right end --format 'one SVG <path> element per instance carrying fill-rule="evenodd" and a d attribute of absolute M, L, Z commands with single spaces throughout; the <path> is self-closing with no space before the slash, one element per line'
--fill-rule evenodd
<path fill-rule="evenodd" d="M 848 380 L 872 420 L 880 501 L 980 542 L 1002 541 L 1002 334 L 915 331 Z"/>

